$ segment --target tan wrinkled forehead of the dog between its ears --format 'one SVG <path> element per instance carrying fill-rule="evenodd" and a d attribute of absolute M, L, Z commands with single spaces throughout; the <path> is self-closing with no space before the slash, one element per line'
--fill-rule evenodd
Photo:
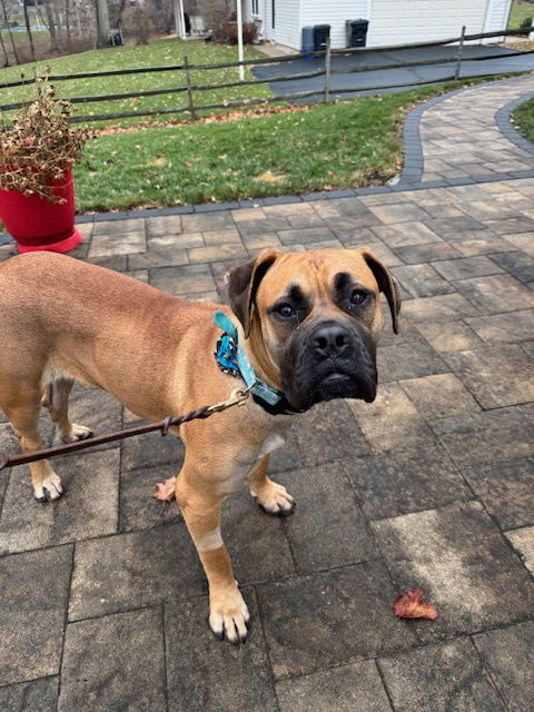
<path fill-rule="evenodd" d="M 333 301 L 343 280 L 379 290 L 379 285 L 360 253 L 324 249 L 280 255 L 258 286 L 256 304 L 261 312 L 280 297 Z"/>

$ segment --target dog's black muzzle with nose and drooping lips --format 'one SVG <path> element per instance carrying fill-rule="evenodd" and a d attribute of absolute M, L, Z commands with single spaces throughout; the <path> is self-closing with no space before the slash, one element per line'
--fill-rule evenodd
<path fill-rule="evenodd" d="M 295 332 L 281 367 L 290 404 L 299 409 L 333 398 L 376 397 L 376 347 L 364 328 L 327 320 Z"/>

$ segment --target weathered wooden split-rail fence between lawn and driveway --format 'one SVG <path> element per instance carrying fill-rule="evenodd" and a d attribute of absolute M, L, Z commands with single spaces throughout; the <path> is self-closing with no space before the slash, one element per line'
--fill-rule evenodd
<path fill-rule="evenodd" d="M 100 115 L 89 115 L 89 116 L 76 116 L 72 117 L 71 120 L 76 122 L 90 122 L 90 121 L 105 121 L 111 119 L 122 119 L 122 118 L 131 118 L 131 117 L 142 117 L 142 116 L 162 116 L 168 113 L 184 113 L 188 112 L 191 118 L 196 118 L 199 111 L 211 111 L 215 109 L 233 109 L 233 108 L 244 108 L 251 107 L 258 105 L 269 105 L 269 103 L 284 103 L 286 101 L 300 100 L 306 98 L 314 97 L 314 102 L 324 102 L 329 101 L 332 97 L 339 97 L 344 93 L 355 93 L 359 90 L 365 91 L 378 91 L 382 89 L 402 89 L 403 87 L 414 87 L 414 86 L 423 86 L 423 85 L 432 85 L 439 83 L 443 81 L 451 81 L 454 79 L 458 79 L 462 60 L 464 59 L 463 52 L 465 42 L 479 40 L 479 39 L 490 39 L 495 37 L 517 37 L 517 36 L 527 36 L 532 32 L 532 28 L 521 28 L 517 30 L 501 30 L 500 32 L 479 32 L 476 34 L 465 34 L 465 27 L 462 29 L 462 34 L 459 37 L 447 38 L 439 41 L 433 42 L 418 42 L 414 44 L 394 44 L 387 47 L 362 47 L 362 48 L 346 48 L 346 49 L 330 49 L 329 42 L 327 43 L 326 50 L 320 52 L 313 52 L 312 55 L 285 55 L 281 57 L 266 57 L 259 59 L 247 59 L 241 62 L 221 62 L 217 65 L 190 65 L 188 62 L 187 57 L 184 59 L 182 65 L 172 65 L 165 67 L 142 67 L 135 69 L 113 69 L 109 71 L 99 71 L 99 72 L 78 72 L 71 75 L 50 75 L 50 82 L 59 82 L 59 81 L 72 81 L 76 79 L 90 79 L 90 78 L 101 78 L 101 77 L 116 77 L 116 76 L 125 76 L 125 75 L 139 75 L 139 73 L 152 73 L 152 72 L 182 72 L 184 73 L 184 83 L 178 87 L 167 87 L 167 88 L 157 88 L 157 89 L 147 89 L 144 91 L 128 91 L 123 93 L 110 93 L 110 95 L 93 95 L 87 97 L 65 97 L 71 103 L 90 103 L 98 101 L 113 101 L 121 99 L 130 99 L 130 98 L 140 98 L 140 97 L 154 97 L 158 95 L 169 95 L 169 93 L 182 93 L 185 95 L 186 102 L 180 106 L 175 107 L 160 107 L 155 109 L 145 109 L 138 111 L 118 111 L 118 112 L 108 112 Z M 352 67 L 344 68 L 333 68 L 332 67 L 332 57 L 335 56 L 354 56 L 357 57 L 365 52 L 365 55 L 380 52 L 380 51 L 392 51 L 392 50 L 402 50 L 402 49 L 419 49 L 419 48 L 431 48 L 431 47 L 442 47 L 445 44 L 457 43 L 457 52 L 454 57 L 441 58 L 441 59 L 428 59 L 428 60 L 416 60 L 411 62 L 388 62 L 384 65 L 365 65 L 365 63 L 355 63 Z M 534 51 L 513 51 L 507 55 L 503 53 L 494 53 L 486 55 L 484 57 L 469 57 L 468 61 L 478 61 L 483 62 L 485 60 L 491 59 L 504 59 L 508 57 L 516 56 L 525 56 L 532 55 Z M 303 58 L 324 58 L 324 67 L 320 69 L 316 69 L 308 72 L 300 72 L 297 75 L 287 75 L 281 77 L 273 77 L 270 79 L 247 79 L 244 81 L 226 81 L 214 85 L 195 85 L 191 78 L 192 70 L 209 70 L 209 69 L 225 69 L 231 67 L 246 67 L 246 66 L 257 66 L 257 65 L 273 65 L 273 63 L 281 63 L 287 61 L 294 61 L 296 59 Z M 366 86 L 360 89 L 353 87 L 346 88 L 337 88 L 335 90 L 332 89 L 332 76 L 337 73 L 357 73 L 357 72 L 372 72 L 385 69 L 400 69 L 400 68 L 411 68 L 411 67 L 428 67 L 432 65 L 452 65 L 451 73 L 445 77 L 439 77 L 437 79 L 424 79 L 421 81 L 409 81 L 408 83 L 379 83 L 376 86 Z M 484 73 L 483 71 L 478 76 L 488 76 L 494 72 Z M 253 98 L 253 99 L 243 99 L 235 101 L 224 101 L 216 103 L 195 103 L 195 93 L 202 91 L 210 91 L 215 89 L 225 89 L 230 87 L 246 87 L 251 85 L 263 85 L 263 83 L 273 83 L 278 81 L 298 81 L 303 79 L 312 79 L 316 77 L 324 77 L 324 86 L 323 89 L 312 89 L 306 91 L 296 91 L 288 95 L 277 95 L 269 96 L 263 98 Z M 21 87 L 24 85 L 30 85 L 33 82 L 33 79 L 19 79 L 18 81 L 3 82 L 0 83 L 1 89 L 8 89 L 13 87 Z M 10 111 L 13 109 L 19 109 L 23 106 L 28 106 L 31 103 L 30 101 L 23 102 L 14 102 L 14 103 L 6 103 L 0 106 L 0 111 Z"/>

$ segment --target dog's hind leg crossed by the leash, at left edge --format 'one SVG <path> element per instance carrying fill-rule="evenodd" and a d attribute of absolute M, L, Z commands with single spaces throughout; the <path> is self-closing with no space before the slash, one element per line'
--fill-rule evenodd
<path fill-rule="evenodd" d="M 19 393 L 16 403 L 13 405 L 4 405 L 3 409 L 20 441 L 22 453 L 41 449 L 42 438 L 39 433 L 39 392 L 36 390 L 34 397 L 23 397 Z M 53 472 L 48 459 L 30 463 L 29 466 L 36 500 L 39 500 L 39 502 L 59 500 L 63 492 L 61 479 Z"/>

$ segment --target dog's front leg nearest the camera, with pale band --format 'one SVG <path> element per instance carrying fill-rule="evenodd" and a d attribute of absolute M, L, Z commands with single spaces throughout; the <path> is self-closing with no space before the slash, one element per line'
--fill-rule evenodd
<path fill-rule="evenodd" d="M 176 501 L 192 537 L 209 585 L 209 625 L 230 643 L 245 642 L 249 613 L 237 587 L 230 557 L 220 534 L 220 508 L 226 498 L 217 484 L 184 465 L 176 483 Z"/>

